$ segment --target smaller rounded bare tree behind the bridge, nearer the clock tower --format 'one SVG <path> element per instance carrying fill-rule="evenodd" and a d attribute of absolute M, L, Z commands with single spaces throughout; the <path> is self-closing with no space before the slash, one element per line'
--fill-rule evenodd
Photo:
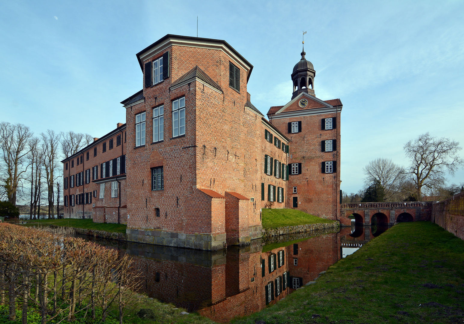
<path fill-rule="evenodd" d="M 380 182 L 384 188 L 384 201 L 391 201 L 405 178 L 403 167 L 393 163 L 392 159 L 377 158 L 367 163 L 362 171 L 366 175 L 366 184 Z"/>

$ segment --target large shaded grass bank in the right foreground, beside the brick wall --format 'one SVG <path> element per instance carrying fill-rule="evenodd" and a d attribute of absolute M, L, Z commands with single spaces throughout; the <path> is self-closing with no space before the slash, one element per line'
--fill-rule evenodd
<path fill-rule="evenodd" d="M 310 286 L 234 324 L 463 323 L 464 241 L 431 222 L 400 223 Z"/>

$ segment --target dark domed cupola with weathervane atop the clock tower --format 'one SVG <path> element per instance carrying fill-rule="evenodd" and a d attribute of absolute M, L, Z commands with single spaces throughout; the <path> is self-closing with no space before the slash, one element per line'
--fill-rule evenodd
<path fill-rule="evenodd" d="M 304 41 L 303 41 L 303 51 L 301 52 L 301 60 L 293 68 L 293 73 L 291 74 L 291 79 L 293 81 L 293 94 L 292 99 L 295 98 L 302 92 L 306 92 L 309 95 L 314 95 L 314 77 L 316 76 L 316 71 L 311 62 L 309 62 L 304 56 L 306 52 L 304 51 Z"/>

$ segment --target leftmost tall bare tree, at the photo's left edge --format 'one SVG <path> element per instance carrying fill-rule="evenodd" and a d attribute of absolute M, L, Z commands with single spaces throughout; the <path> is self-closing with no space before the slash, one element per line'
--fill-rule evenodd
<path fill-rule="evenodd" d="M 24 162 L 30 151 L 27 145 L 32 137 L 29 127 L 23 124 L 0 122 L 0 145 L 2 149 L 2 164 L 5 174 L 2 174 L 8 201 L 16 205 L 18 187 L 24 178 L 26 167 Z"/>

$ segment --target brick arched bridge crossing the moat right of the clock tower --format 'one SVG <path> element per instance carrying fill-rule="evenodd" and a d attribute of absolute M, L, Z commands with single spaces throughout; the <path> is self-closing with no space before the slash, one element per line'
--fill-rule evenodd
<path fill-rule="evenodd" d="M 350 215 L 359 225 L 371 225 L 374 217 L 378 225 L 393 225 L 395 222 L 430 221 L 432 202 L 342 203 L 340 210 L 343 225 L 350 225 Z"/>

